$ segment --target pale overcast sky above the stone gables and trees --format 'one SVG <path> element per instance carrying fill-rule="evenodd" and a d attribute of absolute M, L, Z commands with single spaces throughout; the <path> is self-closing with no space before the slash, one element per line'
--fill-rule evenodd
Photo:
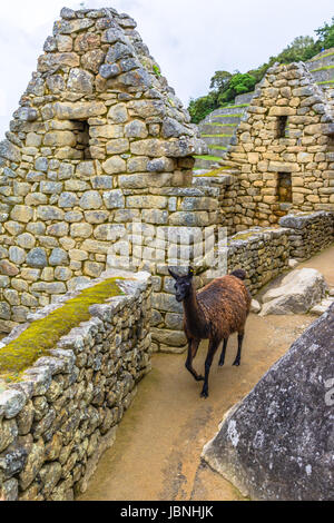
<path fill-rule="evenodd" d="M 63 4 L 76 9 L 80 2 L 1 1 L 0 139 Z M 186 106 L 207 93 L 216 70 L 246 72 L 295 37 L 315 37 L 314 29 L 334 16 L 333 0 L 86 0 L 85 7 L 114 7 L 135 18 Z"/>

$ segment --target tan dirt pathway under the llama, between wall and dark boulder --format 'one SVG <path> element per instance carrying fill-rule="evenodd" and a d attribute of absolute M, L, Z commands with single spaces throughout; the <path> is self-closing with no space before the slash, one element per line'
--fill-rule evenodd
<path fill-rule="evenodd" d="M 303 266 L 317 268 L 334 285 L 333 259 L 334 247 Z M 218 355 L 214 359 L 207 399 L 199 397 L 200 383 L 185 369 L 185 355 L 154 355 L 153 371 L 139 384 L 115 445 L 104 454 L 88 491 L 78 500 L 240 500 L 233 485 L 200 464 L 203 446 L 217 432 L 224 413 L 254 387 L 314 319 L 250 315 L 242 366 L 232 366 L 236 354 L 233 336 L 225 366 L 218 367 Z M 205 355 L 203 343 L 196 368 L 204 368 Z"/>

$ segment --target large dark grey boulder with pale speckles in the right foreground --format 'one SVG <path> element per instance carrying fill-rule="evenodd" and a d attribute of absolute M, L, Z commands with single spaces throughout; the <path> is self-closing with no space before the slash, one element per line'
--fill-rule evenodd
<path fill-rule="evenodd" d="M 334 305 L 230 409 L 204 460 L 254 500 L 334 500 Z"/>

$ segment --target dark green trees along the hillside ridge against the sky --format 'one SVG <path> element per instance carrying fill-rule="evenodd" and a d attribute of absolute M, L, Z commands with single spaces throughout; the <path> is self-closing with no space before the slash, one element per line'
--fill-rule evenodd
<path fill-rule="evenodd" d="M 307 61 L 324 49 L 334 47 L 334 17 L 330 23 L 314 31 L 317 34 L 315 40 L 312 37 L 297 37 L 276 57 L 271 57 L 266 63 L 257 69 L 252 69 L 245 73 L 236 71 L 216 71 L 210 80 L 210 91 L 204 97 L 191 99 L 188 111 L 191 121 L 198 124 L 209 112 L 218 107 L 228 106 L 237 95 L 252 91 L 256 83 L 263 78 L 267 69 L 275 62 L 291 63 L 293 61 Z"/>

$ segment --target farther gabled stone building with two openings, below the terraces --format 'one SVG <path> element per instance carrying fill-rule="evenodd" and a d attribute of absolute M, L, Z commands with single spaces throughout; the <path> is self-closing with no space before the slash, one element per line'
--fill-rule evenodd
<path fill-rule="evenodd" d="M 272 67 L 232 139 L 235 229 L 271 226 L 289 211 L 334 209 L 333 99 L 304 63 Z M 229 206 L 230 207 L 230 206 Z"/>

